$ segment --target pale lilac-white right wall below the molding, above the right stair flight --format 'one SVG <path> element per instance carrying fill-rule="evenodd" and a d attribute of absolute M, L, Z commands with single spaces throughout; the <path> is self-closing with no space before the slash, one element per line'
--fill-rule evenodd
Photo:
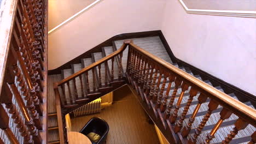
<path fill-rule="evenodd" d="M 256 19 L 187 14 L 171 0 L 161 30 L 177 58 L 256 95 Z"/>

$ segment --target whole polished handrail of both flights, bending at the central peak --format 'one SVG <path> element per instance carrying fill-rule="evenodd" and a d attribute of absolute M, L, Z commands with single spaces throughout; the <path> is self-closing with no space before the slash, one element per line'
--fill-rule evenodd
<path fill-rule="evenodd" d="M 256 122 L 256 115 L 255 115 L 256 110 L 254 110 L 253 108 L 251 108 L 251 107 L 241 103 L 240 101 L 230 97 L 229 95 L 219 91 L 218 89 L 208 85 L 207 83 L 197 79 L 196 77 L 186 73 L 185 71 L 174 67 L 174 65 L 164 61 L 163 59 L 154 56 L 152 53 L 149 53 L 146 50 L 142 49 L 141 47 L 133 44 L 131 40 L 124 41 L 124 44 L 121 46 L 121 48 L 118 49 L 117 51 L 113 52 L 109 56 L 106 56 L 106 57 L 100 59 L 100 61 L 92 63 L 89 67 L 86 67 L 86 68 L 78 71 L 77 73 L 75 73 L 71 76 L 68 76 L 66 79 L 58 82 L 57 86 L 60 86 L 63 83 L 71 81 L 75 77 L 78 77 L 79 75 L 84 74 L 85 71 L 91 70 L 91 69 L 97 67 L 98 65 L 108 61 L 109 59 L 119 55 L 121 52 L 123 52 L 126 49 L 127 45 L 130 45 L 130 47 L 131 47 L 131 49 L 133 49 L 133 51 L 135 50 L 136 52 L 140 53 L 141 55 L 143 55 L 145 57 L 148 57 L 149 61 L 157 63 L 159 68 L 164 68 L 167 71 L 170 70 L 170 71 L 172 71 L 172 73 L 183 77 L 188 82 L 190 82 L 193 85 L 199 87 L 200 91 L 202 93 L 206 94 L 208 97 L 216 99 L 216 101 L 218 101 L 220 103 L 220 105 L 226 107 L 226 109 L 229 109 L 230 111 L 235 113 L 235 115 L 246 119 L 247 122 L 256 126 L 256 123 L 255 123 Z"/>

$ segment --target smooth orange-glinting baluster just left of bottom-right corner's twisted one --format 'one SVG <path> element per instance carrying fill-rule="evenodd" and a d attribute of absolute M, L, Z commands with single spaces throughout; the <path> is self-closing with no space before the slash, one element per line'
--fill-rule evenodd
<path fill-rule="evenodd" d="M 219 113 L 219 115 L 220 115 L 219 121 L 216 123 L 216 125 L 212 129 L 211 133 L 209 133 L 206 136 L 205 143 L 207 143 L 207 144 L 210 143 L 210 141 L 214 138 L 214 134 L 216 134 L 216 132 L 218 131 L 218 129 L 219 129 L 220 125 L 223 123 L 223 121 L 232 115 L 232 112 L 229 111 L 228 109 L 223 108 L 222 111 Z"/>

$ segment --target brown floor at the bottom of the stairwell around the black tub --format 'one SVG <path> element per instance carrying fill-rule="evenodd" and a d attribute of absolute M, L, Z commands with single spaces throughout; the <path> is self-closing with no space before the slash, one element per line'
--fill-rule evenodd
<path fill-rule="evenodd" d="M 144 110 L 127 86 L 114 92 L 114 103 L 101 113 L 72 118 L 72 131 L 82 129 L 92 117 L 101 117 L 109 124 L 107 143 L 159 143 L 154 124 L 148 123 Z"/>

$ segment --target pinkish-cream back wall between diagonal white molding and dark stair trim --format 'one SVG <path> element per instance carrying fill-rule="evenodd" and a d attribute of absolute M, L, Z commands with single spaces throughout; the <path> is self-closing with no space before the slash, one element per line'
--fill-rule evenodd
<path fill-rule="evenodd" d="M 103 0 L 49 34 L 49 70 L 128 32 L 159 30 L 166 1 Z"/>

